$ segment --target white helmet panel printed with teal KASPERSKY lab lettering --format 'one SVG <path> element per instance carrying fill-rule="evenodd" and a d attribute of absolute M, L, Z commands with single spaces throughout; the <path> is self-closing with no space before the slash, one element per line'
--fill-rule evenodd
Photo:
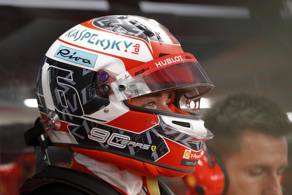
<path fill-rule="evenodd" d="M 59 39 L 91 51 L 106 52 L 141 62 L 153 60 L 151 51 L 142 39 L 129 38 L 102 30 L 94 30 L 79 24 L 65 32 Z"/>

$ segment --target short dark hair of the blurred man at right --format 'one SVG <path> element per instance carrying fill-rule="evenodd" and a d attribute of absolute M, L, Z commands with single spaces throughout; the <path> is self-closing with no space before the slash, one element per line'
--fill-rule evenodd
<path fill-rule="evenodd" d="M 247 93 L 229 95 L 212 105 L 203 116 L 205 127 L 214 138 L 207 141 L 221 158 L 239 150 L 239 138 L 245 130 L 273 137 L 286 136 L 292 130 L 283 108 L 264 96 Z"/>

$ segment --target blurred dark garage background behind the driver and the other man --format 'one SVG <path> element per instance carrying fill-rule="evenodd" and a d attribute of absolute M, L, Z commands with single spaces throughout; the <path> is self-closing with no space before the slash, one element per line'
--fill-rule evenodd
<path fill-rule="evenodd" d="M 71 27 L 107 15 L 155 19 L 196 57 L 215 85 L 201 102 L 201 115 L 240 90 L 278 102 L 292 120 L 292 0 L 0 0 L 1 194 L 18 194 L 35 171 L 33 148 L 25 145 L 23 133 L 39 116 L 36 75 L 47 49 Z M 287 139 L 291 164 L 292 136 Z M 68 167 L 71 155 L 49 148 L 52 164 Z M 175 194 L 185 194 L 180 178 L 162 179 Z M 284 194 L 291 194 L 291 182 L 290 166 Z"/>

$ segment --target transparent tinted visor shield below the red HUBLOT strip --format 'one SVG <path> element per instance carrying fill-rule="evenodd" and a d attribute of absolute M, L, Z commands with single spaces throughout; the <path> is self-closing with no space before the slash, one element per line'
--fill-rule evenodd
<path fill-rule="evenodd" d="M 162 66 L 137 76 L 117 80 L 111 87 L 118 100 L 126 100 L 137 96 L 152 94 L 167 90 L 192 88 L 187 98 L 198 98 L 214 88 L 200 64 L 194 61 L 175 63 L 163 66 L 165 60 L 159 62 Z M 189 91 L 189 90 L 187 90 Z"/>

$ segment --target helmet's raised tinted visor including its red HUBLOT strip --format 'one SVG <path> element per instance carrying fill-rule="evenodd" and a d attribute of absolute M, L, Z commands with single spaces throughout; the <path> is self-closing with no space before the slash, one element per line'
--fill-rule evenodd
<path fill-rule="evenodd" d="M 186 99 L 193 100 L 214 88 L 207 75 L 195 58 L 187 54 L 172 54 L 152 60 L 117 76 L 111 84 L 118 100 L 127 100 L 141 95 L 158 93 L 175 89 L 190 89 Z M 193 59 L 192 59 L 193 58 Z M 126 79 L 125 79 L 126 78 Z"/>

